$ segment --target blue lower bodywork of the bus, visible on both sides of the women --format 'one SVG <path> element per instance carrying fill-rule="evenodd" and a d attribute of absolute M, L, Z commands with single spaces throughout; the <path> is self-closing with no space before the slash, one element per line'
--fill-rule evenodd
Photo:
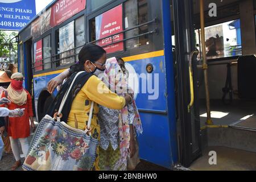
<path fill-rule="evenodd" d="M 150 53 L 148 53 L 150 55 Z M 139 57 L 139 55 L 137 56 Z M 148 100 L 148 96 L 153 96 L 154 93 L 148 94 L 141 93 L 142 89 L 139 89 L 138 96 L 136 98 L 136 103 L 140 112 L 141 121 L 143 126 L 143 134 L 139 135 L 139 152 L 142 159 L 147 160 L 148 162 L 158 164 L 159 166 L 171 168 L 172 159 L 171 159 L 171 146 L 170 146 L 170 121 L 167 115 L 167 100 L 166 100 L 166 71 L 164 56 L 158 57 L 148 57 L 146 59 L 138 59 L 133 61 L 128 61 L 126 64 L 130 64 L 137 76 L 146 75 L 148 78 L 149 75 L 152 75 L 152 83 L 150 79 L 139 79 L 139 85 L 142 85 L 141 82 L 146 81 L 147 88 L 148 86 L 155 89 L 156 100 Z M 146 66 L 148 64 L 153 65 L 154 71 L 152 74 L 148 74 L 146 71 Z M 63 71 L 63 70 L 61 70 Z M 56 72 L 61 72 L 56 71 Z M 45 73 L 43 76 L 34 76 L 34 96 L 35 96 L 35 105 L 39 100 L 39 96 L 42 91 L 46 90 L 47 83 L 59 73 L 52 72 L 54 74 Z M 159 89 L 155 88 L 156 85 L 154 81 L 154 75 L 156 80 L 159 80 Z M 53 93 L 56 96 L 57 90 Z M 146 113 L 145 113 L 146 112 Z"/>

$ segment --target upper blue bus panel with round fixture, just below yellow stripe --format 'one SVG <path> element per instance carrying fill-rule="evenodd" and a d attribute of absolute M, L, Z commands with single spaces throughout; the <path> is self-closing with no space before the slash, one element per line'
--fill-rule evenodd
<path fill-rule="evenodd" d="M 139 93 L 136 98 L 137 107 L 139 109 L 166 112 L 166 75 L 164 56 L 138 59 L 126 62 L 126 64 L 131 64 L 133 66 L 139 78 Z M 152 74 L 149 74 L 146 71 L 148 64 L 151 64 L 154 68 Z M 146 80 L 144 80 L 145 77 Z M 155 81 L 158 81 L 158 83 Z M 142 86 L 146 87 L 146 93 L 143 93 Z"/>

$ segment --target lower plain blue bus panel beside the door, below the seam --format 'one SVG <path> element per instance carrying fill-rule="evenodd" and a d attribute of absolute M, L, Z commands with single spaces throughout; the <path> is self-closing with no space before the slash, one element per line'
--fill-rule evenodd
<path fill-rule="evenodd" d="M 139 135 L 139 156 L 159 166 L 172 168 L 170 122 L 167 115 L 140 113 L 143 134 Z"/>

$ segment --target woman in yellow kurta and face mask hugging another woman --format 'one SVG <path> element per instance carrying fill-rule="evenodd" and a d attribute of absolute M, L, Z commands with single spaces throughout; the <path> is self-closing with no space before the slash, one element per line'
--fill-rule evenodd
<path fill-rule="evenodd" d="M 131 96 L 127 94 L 125 97 L 119 97 L 117 94 L 111 92 L 104 82 L 96 76 L 98 73 L 104 71 L 105 61 L 106 52 L 103 48 L 94 44 L 86 44 L 79 53 L 79 63 L 73 65 L 69 69 L 68 74 L 71 73 L 72 75 L 68 78 L 67 83 L 63 85 L 63 88 L 61 88 L 60 92 L 57 94 L 48 114 L 52 115 L 55 113 L 55 109 L 59 108 L 60 102 L 69 88 L 73 77 L 75 77 L 76 73 L 80 71 L 85 71 L 85 73 L 77 77 L 62 112 L 63 117 L 61 120 L 67 121 L 69 126 L 81 130 L 86 129 L 92 101 L 110 109 L 118 110 L 129 104 L 132 101 Z M 60 75 L 60 77 L 62 76 L 63 75 Z M 50 81 L 48 84 L 48 90 L 50 93 L 53 91 L 51 88 L 56 87 L 55 80 Z M 97 104 L 95 104 L 93 108 L 91 133 L 93 138 L 100 140 L 100 125 L 97 118 L 99 108 Z M 93 165 L 93 169 L 97 171 L 100 170 L 98 162 L 99 156 L 97 148 L 96 161 Z"/>

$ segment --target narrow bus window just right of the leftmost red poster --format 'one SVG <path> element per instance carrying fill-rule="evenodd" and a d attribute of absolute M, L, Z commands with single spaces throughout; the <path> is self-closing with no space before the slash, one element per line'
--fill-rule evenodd
<path fill-rule="evenodd" d="M 43 38 L 43 63 L 44 63 L 44 69 L 51 69 L 51 35 L 46 36 Z M 46 59 L 47 58 L 47 59 Z"/>

